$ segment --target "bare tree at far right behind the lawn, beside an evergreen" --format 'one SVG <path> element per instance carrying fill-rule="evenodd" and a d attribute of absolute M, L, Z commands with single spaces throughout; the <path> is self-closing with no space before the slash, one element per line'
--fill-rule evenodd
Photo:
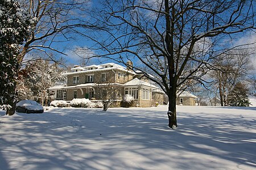
<path fill-rule="evenodd" d="M 221 106 L 227 106 L 230 91 L 238 82 L 248 82 L 250 80 L 251 52 L 248 49 L 230 50 L 215 58 L 215 69 L 210 71 L 210 75 L 217 84 L 216 91 L 220 97 Z M 213 87 L 214 88 L 214 87 Z"/>

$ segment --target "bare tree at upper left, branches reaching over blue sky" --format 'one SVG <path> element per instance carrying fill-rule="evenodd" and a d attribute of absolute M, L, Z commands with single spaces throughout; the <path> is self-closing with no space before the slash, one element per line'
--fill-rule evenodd
<path fill-rule="evenodd" d="M 44 59 L 57 61 L 49 55 L 49 52 L 65 55 L 63 49 L 57 48 L 56 44 L 75 39 L 72 29 L 96 28 L 86 18 L 89 0 L 19 0 L 19 2 L 35 20 L 34 31 L 23 44 L 19 62 L 31 52 L 43 52 L 46 54 L 44 56 L 48 56 Z M 29 60 L 31 59 L 37 58 Z"/>

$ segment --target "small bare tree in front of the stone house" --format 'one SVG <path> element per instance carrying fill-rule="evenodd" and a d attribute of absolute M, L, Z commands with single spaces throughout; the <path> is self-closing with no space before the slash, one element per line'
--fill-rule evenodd
<path fill-rule="evenodd" d="M 107 111 L 110 105 L 121 98 L 121 86 L 114 83 L 112 79 L 108 81 L 96 81 L 96 99 L 101 100 L 103 111 Z"/>

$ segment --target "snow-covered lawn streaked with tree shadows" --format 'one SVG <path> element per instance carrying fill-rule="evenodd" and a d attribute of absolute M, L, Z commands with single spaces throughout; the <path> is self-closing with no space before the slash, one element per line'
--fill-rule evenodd
<path fill-rule="evenodd" d="M 256 169 L 256 108 L 0 112 L 0 169 Z"/>

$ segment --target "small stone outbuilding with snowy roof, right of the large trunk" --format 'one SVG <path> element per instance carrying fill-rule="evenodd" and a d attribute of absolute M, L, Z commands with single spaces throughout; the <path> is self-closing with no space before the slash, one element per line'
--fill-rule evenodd
<path fill-rule="evenodd" d="M 192 95 L 188 91 L 183 91 L 177 94 L 176 105 L 196 105 L 197 96 Z"/>

